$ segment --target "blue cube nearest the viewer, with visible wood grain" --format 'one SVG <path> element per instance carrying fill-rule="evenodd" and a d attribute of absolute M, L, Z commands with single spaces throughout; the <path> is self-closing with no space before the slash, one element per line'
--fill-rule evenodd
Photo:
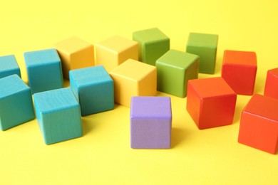
<path fill-rule="evenodd" d="M 71 88 L 34 94 L 38 126 L 46 144 L 82 136 L 81 110 Z"/>

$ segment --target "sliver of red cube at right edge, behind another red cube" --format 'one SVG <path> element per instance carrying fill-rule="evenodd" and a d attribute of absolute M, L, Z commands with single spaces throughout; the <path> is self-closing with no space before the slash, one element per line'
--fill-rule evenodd
<path fill-rule="evenodd" d="M 278 68 L 267 71 L 264 95 L 278 99 Z"/>

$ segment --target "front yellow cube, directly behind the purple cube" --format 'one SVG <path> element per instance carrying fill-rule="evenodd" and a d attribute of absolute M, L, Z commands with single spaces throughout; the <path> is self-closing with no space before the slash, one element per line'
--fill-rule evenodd
<path fill-rule="evenodd" d="M 155 96 L 157 71 L 155 66 L 128 59 L 110 71 L 114 80 L 115 102 L 130 107 L 133 96 Z"/>

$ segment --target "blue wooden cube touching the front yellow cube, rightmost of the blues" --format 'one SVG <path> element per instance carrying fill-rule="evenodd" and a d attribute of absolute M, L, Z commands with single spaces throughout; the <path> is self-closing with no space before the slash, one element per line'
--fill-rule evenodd
<path fill-rule="evenodd" d="M 71 70 L 69 74 L 82 116 L 114 109 L 114 83 L 103 65 Z"/>

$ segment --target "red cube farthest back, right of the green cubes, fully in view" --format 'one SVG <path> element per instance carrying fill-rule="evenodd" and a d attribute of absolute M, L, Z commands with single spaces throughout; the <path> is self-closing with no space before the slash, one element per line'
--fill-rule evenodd
<path fill-rule="evenodd" d="M 257 73 L 256 53 L 224 51 L 222 78 L 238 95 L 252 95 Z"/>

